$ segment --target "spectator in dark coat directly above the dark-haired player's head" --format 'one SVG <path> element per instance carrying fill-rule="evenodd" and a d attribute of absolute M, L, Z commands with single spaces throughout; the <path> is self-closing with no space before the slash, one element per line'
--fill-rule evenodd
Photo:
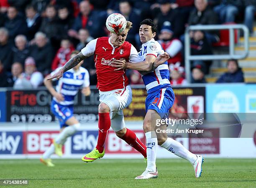
<path fill-rule="evenodd" d="M 164 22 L 169 21 L 172 24 L 173 37 L 179 37 L 184 33 L 184 17 L 179 15 L 177 10 L 172 9 L 169 0 L 159 0 L 159 3 L 161 4 L 160 11 L 154 9 L 156 11 L 155 20 L 157 21 L 158 33 L 160 33 Z"/>

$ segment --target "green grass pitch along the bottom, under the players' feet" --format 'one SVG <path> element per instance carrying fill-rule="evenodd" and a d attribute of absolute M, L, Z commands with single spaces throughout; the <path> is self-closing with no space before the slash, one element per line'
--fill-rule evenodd
<path fill-rule="evenodd" d="M 182 159 L 158 159 L 159 177 L 135 180 L 146 167 L 141 160 L 106 160 L 93 163 L 55 159 L 53 168 L 39 160 L 0 160 L 0 179 L 28 179 L 28 187 L 256 187 L 256 159 L 207 159 L 201 178 Z M 17 187 L 17 186 L 14 186 Z"/>

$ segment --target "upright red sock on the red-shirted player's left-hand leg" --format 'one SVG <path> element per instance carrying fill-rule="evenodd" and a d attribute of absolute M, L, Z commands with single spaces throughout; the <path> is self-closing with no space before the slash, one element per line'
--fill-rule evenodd
<path fill-rule="evenodd" d="M 99 137 L 96 149 L 99 150 L 100 153 L 104 150 L 104 145 L 106 138 L 108 136 L 108 130 L 110 129 L 110 116 L 108 113 L 99 113 Z"/>

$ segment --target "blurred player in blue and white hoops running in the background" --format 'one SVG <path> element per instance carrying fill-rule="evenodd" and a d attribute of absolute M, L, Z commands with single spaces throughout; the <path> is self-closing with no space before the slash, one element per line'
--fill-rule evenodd
<path fill-rule="evenodd" d="M 76 56 L 79 51 L 73 51 L 71 58 Z M 56 90 L 52 86 L 51 80 L 44 79 L 44 85 L 53 96 L 51 102 L 51 112 L 58 117 L 61 127 L 60 134 L 53 140 L 51 146 L 44 152 L 40 161 L 49 167 L 53 167 L 50 156 L 54 153 L 62 156 L 62 145 L 66 142 L 67 137 L 74 135 L 80 127 L 80 123 L 73 116 L 74 97 L 79 88 L 82 88 L 82 94 L 88 96 L 91 93 L 89 73 L 81 67 L 82 61 L 73 69 L 63 74 L 63 78 L 59 79 Z M 61 68 L 59 68 L 61 69 Z M 54 75 L 59 71 L 56 69 L 51 73 Z"/>

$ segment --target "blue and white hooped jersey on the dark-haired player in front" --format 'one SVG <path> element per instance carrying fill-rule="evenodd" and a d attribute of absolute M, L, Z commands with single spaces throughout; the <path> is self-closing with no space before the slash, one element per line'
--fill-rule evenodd
<path fill-rule="evenodd" d="M 153 38 L 150 41 L 142 44 L 141 51 L 138 53 L 138 55 L 141 57 L 141 61 L 145 61 L 146 55 L 153 55 L 157 57 L 162 53 L 164 53 L 162 46 Z M 160 88 L 171 86 L 169 81 L 170 73 L 167 61 L 164 64 L 159 65 L 151 73 L 143 75 L 142 79 L 148 93 L 156 91 Z"/>

